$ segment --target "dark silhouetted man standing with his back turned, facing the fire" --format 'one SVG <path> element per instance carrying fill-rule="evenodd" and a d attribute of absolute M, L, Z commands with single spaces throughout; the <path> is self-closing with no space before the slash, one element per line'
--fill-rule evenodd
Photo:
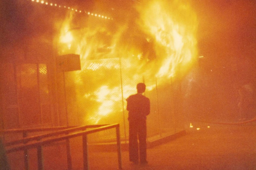
<path fill-rule="evenodd" d="M 146 116 L 150 113 L 150 101 L 142 95 L 146 90 L 144 83 L 137 84 L 137 94 L 127 98 L 127 110 L 129 111 L 129 160 L 133 163 L 146 164 Z M 138 147 L 139 140 L 139 147 Z"/>

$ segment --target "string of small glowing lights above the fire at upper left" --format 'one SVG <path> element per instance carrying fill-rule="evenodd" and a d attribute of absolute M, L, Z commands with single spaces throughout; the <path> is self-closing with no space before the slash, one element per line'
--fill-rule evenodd
<path fill-rule="evenodd" d="M 94 16 L 94 17 L 98 17 L 98 18 L 102 18 L 102 19 L 113 20 L 113 18 L 105 16 L 105 15 L 96 14 L 96 13 L 85 11 L 85 10 L 79 10 L 79 9 L 75 9 L 75 8 L 68 7 L 68 6 L 62 6 L 62 5 L 47 2 L 47 1 L 44 1 L 44 0 L 27 0 L 27 1 L 36 2 L 36 3 L 42 4 L 42 5 L 48 5 L 48 6 L 51 6 L 51 7 L 58 7 L 58 8 L 68 9 L 68 10 L 72 10 L 72 11 L 78 12 L 78 13 L 85 13 L 89 16 Z"/>

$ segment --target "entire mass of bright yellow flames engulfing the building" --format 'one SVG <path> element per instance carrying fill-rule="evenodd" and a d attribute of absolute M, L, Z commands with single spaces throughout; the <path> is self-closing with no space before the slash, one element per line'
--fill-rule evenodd
<path fill-rule="evenodd" d="M 158 84 L 165 84 L 177 72 L 179 76 L 184 74 L 196 59 L 197 21 L 189 5 L 181 1 L 152 0 L 134 4 L 132 8 L 136 16 L 129 18 L 131 15 L 128 15 L 124 19 L 126 23 L 118 23 L 115 18 L 102 22 L 88 17 L 86 26 L 78 25 L 74 24 L 78 19 L 74 19 L 72 13 L 63 22 L 59 54 L 80 54 L 82 70 L 75 73 L 74 82 L 84 90 L 76 90 L 76 97 L 80 104 L 94 105 L 87 105 L 85 111 L 90 111 L 85 119 L 91 123 L 99 123 L 104 116 L 122 110 L 120 67 L 129 70 L 122 72 L 128 74 L 131 82 L 122 88 L 123 97 L 127 98 L 136 92 L 134 83 L 138 79 L 135 77 L 159 77 Z M 111 81 L 88 76 L 94 75 L 92 72 Z M 154 88 L 155 85 L 148 84 L 147 90 Z"/>

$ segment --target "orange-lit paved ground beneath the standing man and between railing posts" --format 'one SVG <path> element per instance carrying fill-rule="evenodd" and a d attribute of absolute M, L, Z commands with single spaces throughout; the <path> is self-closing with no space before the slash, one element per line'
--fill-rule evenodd
<path fill-rule="evenodd" d="M 123 170 L 256 170 L 256 122 L 236 125 L 192 123 L 186 134 L 148 148 L 147 165 L 129 162 L 122 150 Z M 208 127 L 209 126 L 209 127 Z M 200 130 L 196 128 L 200 127 Z M 83 169 L 81 137 L 72 140 L 72 167 Z M 97 150 L 97 151 L 96 151 Z M 99 152 L 89 146 L 90 170 L 118 169 L 116 151 Z M 45 170 L 67 169 L 66 143 L 44 148 Z M 28 153 L 30 169 L 37 169 L 36 149 Z M 12 170 L 24 169 L 23 152 L 9 155 Z"/>

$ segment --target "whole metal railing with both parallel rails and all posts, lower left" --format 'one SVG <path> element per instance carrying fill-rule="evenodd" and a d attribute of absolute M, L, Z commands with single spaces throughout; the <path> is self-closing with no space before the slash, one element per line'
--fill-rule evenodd
<path fill-rule="evenodd" d="M 95 129 L 84 130 L 84 129 L 86 129 L 86 127 L 95 128 Z M 56 142 L 56 141 L 66 140 L 67 141 L 67 157 L 69 157 L 68 162 L 70 162 L 68 164 L 68 166 L 69 166 L 68 168 L 70 170 L 70 169 L 72 169 L 72 166 L 71 166 L 71 161 L 72 160 L 71 160 L 71 154 L 70 154 L 70 149 L 71 148 L 70 148 L 70 143 L 69 143 L 70 141 L 69 140 L 70 140 L 70 138 L 73 138 L 73 137 L 82 136 L 82 142 L 83 142 L 83 169 L 84 170 L 89 170 L 87 135 L 91 134 L 91 133 L 107 130 L 107 129 L 116 128 L 118 166 L 119 166 L 119 169 L 122 169 L 120 125 L 119 124 L 107 124 L 107 125 L 93 125 L 93 126 L 86 126 L 86 127 L 78 127 L 78 128 L 74 128 L 74 129 L 72 128 L 72 129 L 67 129 L 67 130 L 64 130 L 64 131 L 61 130 L 60 132 L 37 135 L 37 136 L 33 136 L 33 137 L 26 137 L 27 132 L 23 131 L 23 137 L 25 137 L 24 139 L 8 143 L 8 146 L 17 145 L 17 144 L 20 144 L 20 145 L 19 146 L 14 146 L 13 148 L 8 148 L 7 153 L 15 152 L 15 151 L 18 151 L 18 150 L 23 150 L 24 153 L 28 153 L 30 148 L 37 148 L 38 170 L 44 170 L 43 146 L 48 145 L 48 144 L 53 143 L 53 142 Z M 73 131 L 78 131 L 78 130 L 82 130 L 82 132 L 73 132 Z M 14 131 L 10 131 L 10 132 L 14 132 Z M 69 132 L 72 132 L 72 134 L 69 134 Z M 56 136 L 56 135 L 60 135 L 60 134 L 63 134 L 63 133 L 64 134 L 66 133 L 66 135 L 41 140 L 44 137 Z M 32 140 L 37 140 L 37 141 L 29 143 L 29 141 L 32 141 Z M 29 169 L 29 162 L 28 162 L 29 159 L 28 159 L 28 157 L 27 158 L 26 157 L 27 157 L 27 155 L 25 155 L 25 158 L 24 158 L 25 166 L 26 166 L 25 168 L 26 168 L 26 170 L 28 170 Z"/>

